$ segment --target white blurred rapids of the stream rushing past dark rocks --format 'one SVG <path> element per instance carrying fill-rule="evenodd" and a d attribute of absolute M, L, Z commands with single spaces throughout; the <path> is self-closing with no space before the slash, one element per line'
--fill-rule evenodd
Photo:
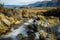
<path fill-rule="evenodd" d="M 18 36 L 19 34 L 23 34 L 25 37 L 28 37 L 27 35 L 27 31 L 29 30 L 28 25 L 33 24 L 33 22 L 34 19 L 30 19 L 28 20 L 28 22 L 22 24 L 15 30 L 11 28 L 11 33 L 7 35 L 3 35 L 1 36 L 1 38 L 12 38 L 12 40 L 17 40 L 16 36 Z"/>

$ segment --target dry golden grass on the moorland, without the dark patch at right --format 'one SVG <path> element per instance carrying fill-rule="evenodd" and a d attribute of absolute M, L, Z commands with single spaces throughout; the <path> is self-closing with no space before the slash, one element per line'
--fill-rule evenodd
<path fill-rule="evenodd" d="M 23 20 L 21 21 L 21 18 L 23 16 L 24 16 L 24 18 L 23 18 L 24 21 L 25 20 L 29 20 L 30 18 L 32 18 L 34 16 L 37 16 L 37 17 L 39 17 L 41 19 L 40 21 L 44 22 L 45 17 L 40 15 L 40 14 L 42 12 L 46 12 L 46 11 L 51 10 L 51 9 L 56 9 L 56 7 L 20 8 L 20 9 L 2 8 L 2 9 L 0 9 L 0 11 L 1 11 L 1 13 L 0 13 L 0 20 L 6 19 L 6 21 L 3 21 L 4 23 L 2 23 L 0 21 L 0 34 L 6 33 L 6 31 L 9 30 L 9 28 L 11 28 L 10 27 L 11 25 L 13 25 L 13 24 L 20 24 L 23 21 Z M 51 17 L 51 18 L 53 18 L 53 17 Z M 9 25 L 8 23 L 6 23 L 7 21 L 10 22 L 11 24 Z M 55 24 L 57 22 L 57 20 L 49 20 L 48 22 L 50 24 Z"/>

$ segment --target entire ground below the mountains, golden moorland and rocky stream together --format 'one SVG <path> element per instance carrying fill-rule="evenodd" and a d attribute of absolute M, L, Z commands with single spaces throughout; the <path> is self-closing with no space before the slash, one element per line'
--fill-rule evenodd
<path fill-rule="evenodd" d="M 60 8 L 0 9 L 0 40 L 59 40 Z"/>

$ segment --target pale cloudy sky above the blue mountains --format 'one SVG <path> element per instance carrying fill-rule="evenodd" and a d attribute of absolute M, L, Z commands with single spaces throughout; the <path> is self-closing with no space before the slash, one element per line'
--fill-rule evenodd
<path fill-rule="evenodd" d="M 0 0 L 0 4 L 4 5 L 27 5 L 37 1 L 51 1 L 51 0 Z"/>

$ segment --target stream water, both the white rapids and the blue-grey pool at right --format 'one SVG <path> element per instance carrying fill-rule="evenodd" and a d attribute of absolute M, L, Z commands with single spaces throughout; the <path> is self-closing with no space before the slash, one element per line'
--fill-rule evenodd
<path fill-rule="evenodd" d="M 18 26 L 17 29 L 14 30 L 14 28 L 11 28 L 11 33 L 7 34 L 7 35 L 3 35 L 0 38 L 4 39 L 5 38 L 11 38 L 10 40 L 18 40 L 17 36 L 19 34 L 24 35 L 24 37 L 28 37 L 27 32 L 29 31 L 28 26 L 29 25 L 33 25 L 34 24 L 34 19 L 30 19 L 27 22 L 23 23 L 22 25 Z M 48 27 L 49 28 L 49 27 Z M 55 32 L 55 34 L 57 35 L 58 38 L 60 38 L 60 24 L 52 26 L 51 30 L 53 32 Z M 59 31 L 58 31 L 59 30 Z M 20 39 L 19 39 L 20 40 Z"/>

